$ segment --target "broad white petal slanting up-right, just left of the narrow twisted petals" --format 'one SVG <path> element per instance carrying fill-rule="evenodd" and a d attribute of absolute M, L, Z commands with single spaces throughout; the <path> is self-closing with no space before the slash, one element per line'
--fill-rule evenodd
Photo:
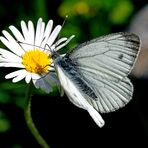
<path fill-rule="evenodd" d="M 47 44 L 49 46 L 51 46 L 53 44 L 53 42 L 57 38 L 60 31 L 61 31 L 61 25 L 56 26 L 56 28 L 53 30 L 53 32 L 51 33 L 51 35 L 50 35 L 50 37 L 49 37 L 49 39 L 47 41 Z"/>

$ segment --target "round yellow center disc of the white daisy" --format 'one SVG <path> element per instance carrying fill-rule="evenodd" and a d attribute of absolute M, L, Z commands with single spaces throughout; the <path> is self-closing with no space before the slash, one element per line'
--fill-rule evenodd
<path fill-rule="evenodd" d="M 22 56 L 22 64 L 31 73 L 47 73 L 51 62 L 51 56 L 39 49 L 29 50 Z"/>

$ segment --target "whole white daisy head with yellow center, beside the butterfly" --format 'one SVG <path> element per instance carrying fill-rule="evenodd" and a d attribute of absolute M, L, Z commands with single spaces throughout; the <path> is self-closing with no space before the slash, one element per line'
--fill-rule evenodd
<path fill-rule="evenodd" d="M 61 25 L 57 25 L 53 31 L 53 21 L 49 20 L 47 25 L 39 18 L 36 29 L 32 21 L 26 24 L 21 21 L 21 32 L 14 26 L 10 26 L 11 34 L 3 30 L 1 42 L 9 49 L 0 48 L 0 67 L 15 67 L 16 71 L 5 76 L 18 82 L 25 79 L 26 83 L 32 80 L 36 88 L 50 92 L 51 85 L 56 81 L 54 65 L 51 57 L 52 51 L 64 47 L 74 37 L 63 37 L 56 40 Z M 48 45 L 48 46 L 47 46 Z"/>

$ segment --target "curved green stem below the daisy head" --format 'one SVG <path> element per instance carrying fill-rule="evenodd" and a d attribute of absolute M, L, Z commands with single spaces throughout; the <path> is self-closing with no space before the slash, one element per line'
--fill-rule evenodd
<path fill-rule="evenodd" d="M 25 96 L 25 99 L 26 99 L 25 100 L 26 104 L 24 108 L 25 120 L 26 120 L 28 128 L 30 129 L 31 133 L 33 134 L 37 142 L 40 144 L 40 146 L 42 146 L 43 148 L 50 148 L 49 145 L 46 143 L 46 141 L 40 135 L 37 128 L 35 127 L 32 117 L 31 117 L 31 87 L 32 87 L 32 84 L 31 83 L 28 84 L 28 88 L 27 88 L 26 96 Z"/>

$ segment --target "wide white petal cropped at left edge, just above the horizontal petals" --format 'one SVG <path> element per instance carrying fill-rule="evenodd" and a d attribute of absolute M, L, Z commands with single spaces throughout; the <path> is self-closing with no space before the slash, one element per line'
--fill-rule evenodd
<path fill-rule="evenodd" d="M 8 50 L 0 48 L 0 54 L 0 57 L 5 58 L 8 62 L 22 62 L 22 58 Z"/>

